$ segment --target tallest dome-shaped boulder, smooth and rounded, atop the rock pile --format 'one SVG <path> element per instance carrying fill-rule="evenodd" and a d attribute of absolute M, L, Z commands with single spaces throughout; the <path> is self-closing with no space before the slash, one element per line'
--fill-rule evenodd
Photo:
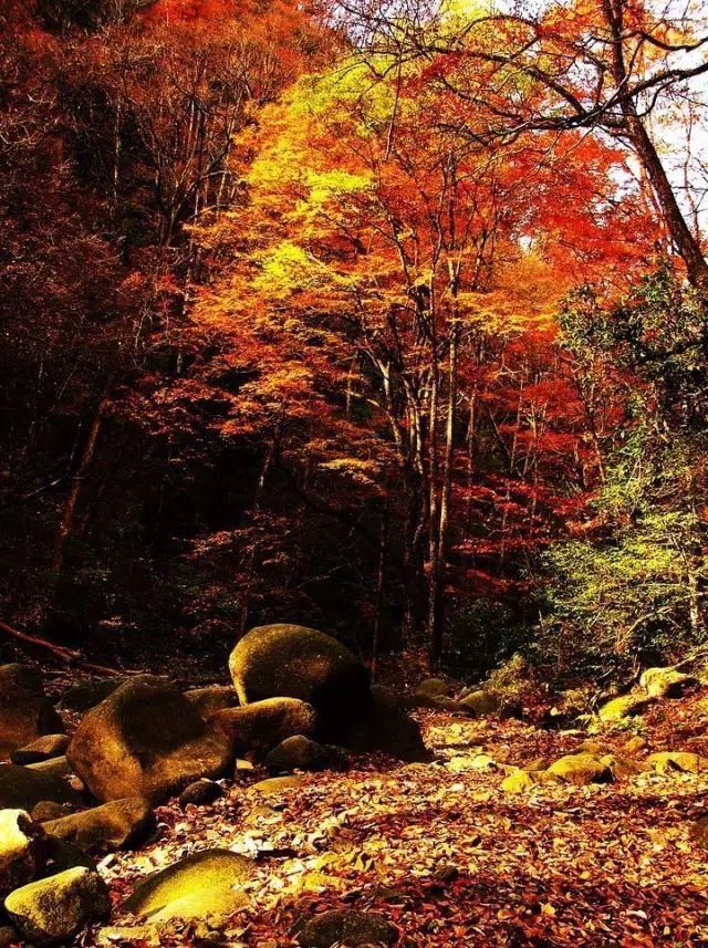
<path fill-rule="evenodd" d="M 335 638 L 300 625 L 252 628 L 229 658 L 242 705 L 300 698 L 322 711 L 332 730 L 354 720 L 368 696 L 368 673 Z"/>

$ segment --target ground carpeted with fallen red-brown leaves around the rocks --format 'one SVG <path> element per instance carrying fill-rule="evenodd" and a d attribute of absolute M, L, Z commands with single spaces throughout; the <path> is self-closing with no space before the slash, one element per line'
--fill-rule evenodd
<path fill-rule="evenodd" d="M 708 772 L 510 794 L 509 765 L 553 761 L 587 735 L 416 713 L 434 763 L 369 757 L 270 798 L 247 785 L 264 774 L 243 772 L 209 808 L 160 808 L 152 843 L 101 864 L 116 913 L 82 944 L 285 948 L 299 917 L 356 907 L 385 915 L 404 946 L 708 945 L 708 850 L 694 832 Z M 620 752 L 637 735 L 638 760 L 708 757 L 708 690 L 594 739 Z M 210 846 L 258 860 L 247 908 L 219 934 L 205 921 L 123 927 L 135 925 L 119 906 L 137 877 Z"/>

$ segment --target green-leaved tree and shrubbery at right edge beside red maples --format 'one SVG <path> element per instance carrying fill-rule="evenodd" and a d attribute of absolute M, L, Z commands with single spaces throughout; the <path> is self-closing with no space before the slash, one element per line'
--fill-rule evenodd
<path fill-rule="evenodd" d="M 605 353 L 638 384 L 593 503 L 594 530 L 546 555 L 550 618 L 539 648 L 561 674 L 624 674 L 705 636 L 706 430 L 696 385 L 705 315 L 664 269 L 614 310 L 584 290 L 563 320 L 581 361 Z"/>

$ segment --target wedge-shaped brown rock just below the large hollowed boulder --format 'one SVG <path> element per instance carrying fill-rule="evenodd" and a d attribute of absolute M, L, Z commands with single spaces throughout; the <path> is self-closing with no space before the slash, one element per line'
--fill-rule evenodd
<path fill-rule="evenodd" d="M 140 796 L 113 800 L 42 824 L 50 836 L 73 843 L 86 852 L 128 850 L 155 831 L 157 822 Z"/>

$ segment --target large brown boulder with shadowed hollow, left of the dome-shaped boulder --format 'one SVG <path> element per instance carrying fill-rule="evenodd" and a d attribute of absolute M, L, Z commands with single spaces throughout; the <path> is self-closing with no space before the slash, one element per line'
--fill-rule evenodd
<path fill-rule="evenodd" d="M 170 685 L 127 681 L 80 723 L 69 760 L 98 800 L 158 801 L 198 780 L 220 777 L 232 759 L 229 740 L 214 733 Z"/>

